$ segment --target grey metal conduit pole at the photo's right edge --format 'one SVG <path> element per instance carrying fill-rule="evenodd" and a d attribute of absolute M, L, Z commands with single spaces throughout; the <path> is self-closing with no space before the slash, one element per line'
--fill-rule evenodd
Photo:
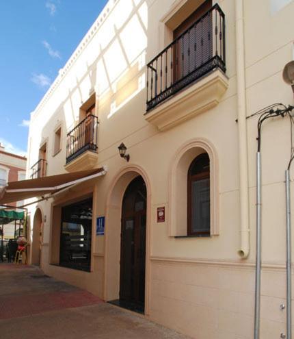
<path fill-rule="evenodd" d="M 286 177 L 286 318 L 287 339 L 291 339 L 291 204 L 290 204 L 290 173 L 285 172 Z"/>

